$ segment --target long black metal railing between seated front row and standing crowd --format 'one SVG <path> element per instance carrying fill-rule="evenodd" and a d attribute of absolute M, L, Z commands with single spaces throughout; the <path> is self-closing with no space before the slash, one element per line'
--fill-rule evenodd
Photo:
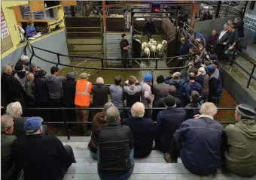
<path fill-rule="evenodd" d="M 26 113 L 27 110 L 32 110 L 35 112 L 35 110 L 61 110 L 62 112 L 62 119 L 63 121 L 43 121 L 43 124 L 62 124 L 66 128 L 66 136 L 68 139 L 70 139 L 70 134 L 69 134 L 69 124 L 92 124 L 91 121 L 67 121 L 67 114 L 66 110 L 102 110 L 103 107 L 61 107 L 61 108 L 23 108 L 23 112 Z M 199 108 L 178 108 L 181 110 L 200 110 Z M 123 108 L 118 108 L 118 110 L 131 110 L 131 107 L 123 107 Z M 152 108 L 145 108 L 145 110 L 166 110 L 166 107 L 152 107 Z M 236 108 L 218 108 L 218 110 L 236 110 Z M 233 124 L 234 121 L 218 121 L 221 124 Z M 154 124 L 156 122 L 154 121 Z"/>

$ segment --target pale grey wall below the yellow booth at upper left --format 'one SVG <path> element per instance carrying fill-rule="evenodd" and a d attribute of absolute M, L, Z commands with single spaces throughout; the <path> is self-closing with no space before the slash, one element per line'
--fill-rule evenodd
<path fill-rule="evenodd" d="M 33 42 L 32 45 L 40 47 L 42 49 L 47 49 L 53 52 L 58 52 L 59 54 L 69 55 L 65 31 L 59 31 L 56 34 L 52 34 L 48 37 L 44 37 L 41 40 Z M 14 52 L 11 52 L 11 54 L 7 55 L 5 58 L 2 58 L 1 66 L 3 67 L 8 63 L 16 64 L 16 62 L 19 61 L 20 56 L 23 55 L 24 53 L 24 47 L 25 46 L 17 48 Z M 26 49 L 26 52 L 27 52 L 27 55 L 29 55 L 30 57 L 31 52 L 29 52 L 29 49 Z M 52 53 L 35 49 L 35 54 L 48 61 L 58 62 L 57 56 Z M 69 65 L 69 57 L 60 57 L 60 62 L 66 65 Z M 36 58 L 35 56 L 32 58 L 32 63 L 35 63 L 36 65 L 38 65 L 40 68 L 42 68 L 44 71 L 47 71 L 47 72 L 50 72 L 50 68 L 54 66 L 53 64 L 44 62 L 41 59 Z M 63 67 L 59 66 L 59 68 L 63 68 Z"/>

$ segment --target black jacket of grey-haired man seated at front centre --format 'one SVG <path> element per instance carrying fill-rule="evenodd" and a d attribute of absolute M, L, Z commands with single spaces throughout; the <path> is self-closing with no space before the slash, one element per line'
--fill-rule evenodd
<path fill-rule="evenodd" d="M 130 150 L 134 147 L 130 127 L 117 121 L 107 121 L 96 131 L 96 145 L 99 149 L 99 173 L 124 175 L 130 170 Z"/>

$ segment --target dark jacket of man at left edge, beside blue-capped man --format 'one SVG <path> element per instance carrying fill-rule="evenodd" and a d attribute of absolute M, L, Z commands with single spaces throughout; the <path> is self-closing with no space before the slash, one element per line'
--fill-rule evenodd
<path fill-rule="evenodd" d="M 1 179 L 8 179 L 14 174 L 11 167 L 14 165 L 13 151 L 16 139 L 14 135 L 1 133 Z"/>

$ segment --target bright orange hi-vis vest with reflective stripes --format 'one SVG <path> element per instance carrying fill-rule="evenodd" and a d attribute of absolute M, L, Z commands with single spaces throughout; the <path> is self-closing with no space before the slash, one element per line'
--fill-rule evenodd
<path fill-rule="evenodd" d="M 78 80 L 75 87 L 75 105 L 78 107 L 90 107 L 90 93 L 92 83 L 87 80 Z"/>

